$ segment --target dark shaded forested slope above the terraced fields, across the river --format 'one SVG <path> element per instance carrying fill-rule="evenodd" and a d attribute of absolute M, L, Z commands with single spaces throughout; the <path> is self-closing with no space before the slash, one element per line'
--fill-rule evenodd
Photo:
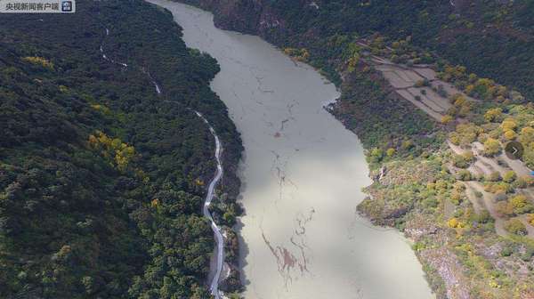
<path fill-rule="evenodd" d="M 322 48 L 312 54 L 321 68 L 328 36 L 368 36 L 414 44 L 439 52 L 483 77 L 534 96 L 534 1 L 213 1 L 185 0 L 212 10 L 223 28 L 259 34 L 278 45 Z M 313 63 L 312 63 L 313 64 Z M 335 74 L 331 74 L 335 77 Z"/>

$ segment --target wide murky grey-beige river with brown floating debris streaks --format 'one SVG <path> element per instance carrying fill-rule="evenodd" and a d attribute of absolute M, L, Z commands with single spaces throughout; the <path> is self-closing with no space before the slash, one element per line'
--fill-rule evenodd
<path fill-rule="evenodd" d="M 433 298 L 407 240 L 356 213 L 368 166 L 358 138 L 322 108 L 336 87 L 257 36 L 214 28 L 209 12 L 150 2 L 173 12 L 186 44 L 221 65 L 211 87 L 245 147 L 244 296 Z"/>

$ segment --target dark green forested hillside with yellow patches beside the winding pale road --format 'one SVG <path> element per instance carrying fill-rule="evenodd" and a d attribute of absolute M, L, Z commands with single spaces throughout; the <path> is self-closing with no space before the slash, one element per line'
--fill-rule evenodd
<path fill-rule="evenodd" d="M 191 109 L 222 138 L 231 213 L 241 145 L 216 61 L 181 36 L 137 0 L 2 15 L 0 297 L 209 297 L 214 140 Z"/>

